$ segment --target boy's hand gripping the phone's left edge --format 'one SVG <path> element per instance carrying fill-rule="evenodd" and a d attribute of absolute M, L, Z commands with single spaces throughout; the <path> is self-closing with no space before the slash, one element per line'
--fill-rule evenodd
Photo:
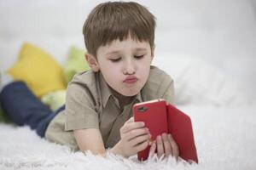
<path fill-rule="evenodd" d="M 111 150 L 113 153 L 120 154 L 125 157 L 133 156 L 141 150 L 145 150 L 148 146 L 151 135 L 144 122 L 134 122 L 131 117 L 124 126 L 120 128 L 119 143 Z"/>

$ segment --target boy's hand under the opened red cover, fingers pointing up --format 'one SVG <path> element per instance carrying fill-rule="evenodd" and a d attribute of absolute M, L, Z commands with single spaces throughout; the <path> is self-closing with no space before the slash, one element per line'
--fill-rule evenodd
<path fill-rule="evenodd" d="M 163 133 L 156 138 L 156 141 L 151 145 L 149 156 L 153 156 L 155 150 L 157 150 L 157 156 L 160 157 L 162 155 L 166 156 L 174 156 L 177 160 L 179 155 L 178 147 L 174 139 L 172 138 L 172 134 Z"/>

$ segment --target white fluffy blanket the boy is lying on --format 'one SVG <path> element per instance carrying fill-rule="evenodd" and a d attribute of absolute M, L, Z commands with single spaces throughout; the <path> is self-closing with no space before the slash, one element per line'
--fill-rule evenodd
<path fill-rule="evenodd" d="M 200 163 L 189 165 L 172 158 L 86 156 L 66 146 L 40 139 L 29 127 L 0 123 L 0 169 L 255 169 L 256 107 L 183 106 L 192 118 Z"/>

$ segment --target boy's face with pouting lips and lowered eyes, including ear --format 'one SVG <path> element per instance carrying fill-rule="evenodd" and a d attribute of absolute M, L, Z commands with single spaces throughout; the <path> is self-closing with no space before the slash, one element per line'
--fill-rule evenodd
<path fill-rule="evenodd" d="M 124 96 L 137 95 L 148 80 L 154 49 L 148 42 L 137 42 L 131 37 L 115 40 L 97 50 L 97 60 L 91 68 L 102 71 L 108 86 Z M 89 64 L 90 56 L 86 56 Z M 92 58 L 94 59 L 94 58 Z"/>

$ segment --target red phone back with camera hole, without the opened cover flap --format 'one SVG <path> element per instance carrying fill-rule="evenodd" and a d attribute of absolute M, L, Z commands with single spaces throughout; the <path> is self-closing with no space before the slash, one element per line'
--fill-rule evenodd
<path fill-rule="evenodd" d="M 167 126 L 167 107 L 164 99 L 155 99 L 133 105 L 133 116 L 135 122 L 144 122 L 148 127 L 151 141 L 154 142 L 156 137 L 162 133 L 168 133 Z M 148 159 L 150 145 L 145 150 L 138 152 L 138 160 Z"/>

